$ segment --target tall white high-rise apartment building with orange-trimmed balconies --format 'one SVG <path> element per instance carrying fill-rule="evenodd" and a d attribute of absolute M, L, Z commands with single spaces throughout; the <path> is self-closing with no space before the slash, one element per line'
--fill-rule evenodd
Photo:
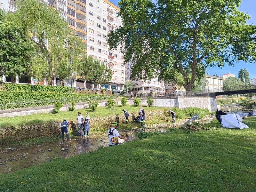
<path fill-rule="evenodd" d="M 94 59 L 101 60 L 112 70 L 112 80 L 107 84 L 96 85 L 87 82 L 89 88 L 113 89 L 115 92 L 124 90 L 125 66 L 120 53 L 120 46 L 116 50 L 109 50 L 107 36 L 111 30 L 122 25 L 120 17 L 117 17 L 120 9 L 108 0 L 38 0 L 60 11 L 60 16 L 68 22 L 77 36 L 79 36 L 87 48 L 87 54 Z M 0 0 L 0 8 L 15 11 L 15 0 Z M 28 83 L 36 84 L 37 79 L 31 77 Z M 6 81 L 3 77 L 2 81 Z M 8 81 L 8 79 L 7 79 Z M 19 77 L 16 76 L 16 82 Z M 45 79 L 40 84 L 47 84 Z M 60 79 L 54 77 L 54 85 L 60 85 Z M 66 80 L 67 86 L 84 87 L 84 80 L 76 76 Z"/>

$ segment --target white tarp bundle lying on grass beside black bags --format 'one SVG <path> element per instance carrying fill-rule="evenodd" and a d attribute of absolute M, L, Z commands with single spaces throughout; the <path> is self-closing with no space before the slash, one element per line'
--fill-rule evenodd
<path fill-rule="evenodd" d="M 246 124 L 241 123 L 243 119 L 237 113 L 221 115 L 220 119 L 221 119 L 222 127 L 239 128 L 239 129 L 249 128 Z"/>

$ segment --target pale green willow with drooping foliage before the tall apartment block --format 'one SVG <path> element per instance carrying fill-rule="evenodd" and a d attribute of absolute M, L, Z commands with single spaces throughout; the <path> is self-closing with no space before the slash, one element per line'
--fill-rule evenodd
<path fill-rule="evenodd" d="M 82 53 L 83 44 L 71 33 L 59 11 L 36 0 L 21 0 L 17 8 L 14 17 L 25 29 L 30 41 L 37 45 L 37 53 L 30 66 L 31 75 L 36 78 L 46 76 L 52 84 L 52 78 L 63 60 L 72 62 L 76 71 L 77 57 Z"/>

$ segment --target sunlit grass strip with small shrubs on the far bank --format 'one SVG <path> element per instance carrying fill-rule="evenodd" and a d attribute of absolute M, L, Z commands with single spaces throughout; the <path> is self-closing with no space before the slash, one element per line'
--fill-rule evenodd
<path fill-rule="evenodd" d="M 138 114 L 139 107 L 134 106 L 125 106 L 124 107 L 130 114 L 135 112 Z M 161 107 L 145 107 L 145 112 L 148 111 L 156 111 L 161 110 Z M 124 114 L 122 111 L 122 106 L 117 106 L 116 109 L 107 108 L 107 107 L 98 107 L 96 111 L 92 112 L 90 109 L 78 109 L 72 112 L 69 111 L 60 111 L 57 114 L 53 113 L 38 113 L 34 115 L 27 116 L 16 116 L 16 117 L 3 117 L 0 118 L 0 128 L 1 127 L 9 127 L 15 125 L 32 125 L 32 124 L 41 124 L 44 122 L 52 122 L 52 121 L 63 121 L 66 120 L 76 120 L 77 113 L 80 111 L 82 115 L 85 117 L 85 113 L 88 112 L 91 117 L 94 116 L 111 116 L 118 114 Z"/>

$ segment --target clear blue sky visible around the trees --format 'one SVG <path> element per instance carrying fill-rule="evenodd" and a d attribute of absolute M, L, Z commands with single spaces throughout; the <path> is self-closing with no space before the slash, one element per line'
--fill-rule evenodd
<path fill-rule="evenodd" d="M 110 0 L 115 5 L 119 2 L 119 0 Z M 248 24 L 256 25 L 256 0 L 242 0 L 240 7 L 238 8 L 240 11 L 247 13 L 251 19 L 247 20 Z M 223 68 L 213 67 L 208 68 L 206 73 L 209 75 L 222 75 L 225 73 L 235 74 L 238 76 L 238 72 L 241 68 L 246 68 L 250 73 L 250 78 L 256 77 L 256 63 L 246 63 L 244 61 L 239 61 L 233 64 L 233 66 L 225 65 Z"/>

